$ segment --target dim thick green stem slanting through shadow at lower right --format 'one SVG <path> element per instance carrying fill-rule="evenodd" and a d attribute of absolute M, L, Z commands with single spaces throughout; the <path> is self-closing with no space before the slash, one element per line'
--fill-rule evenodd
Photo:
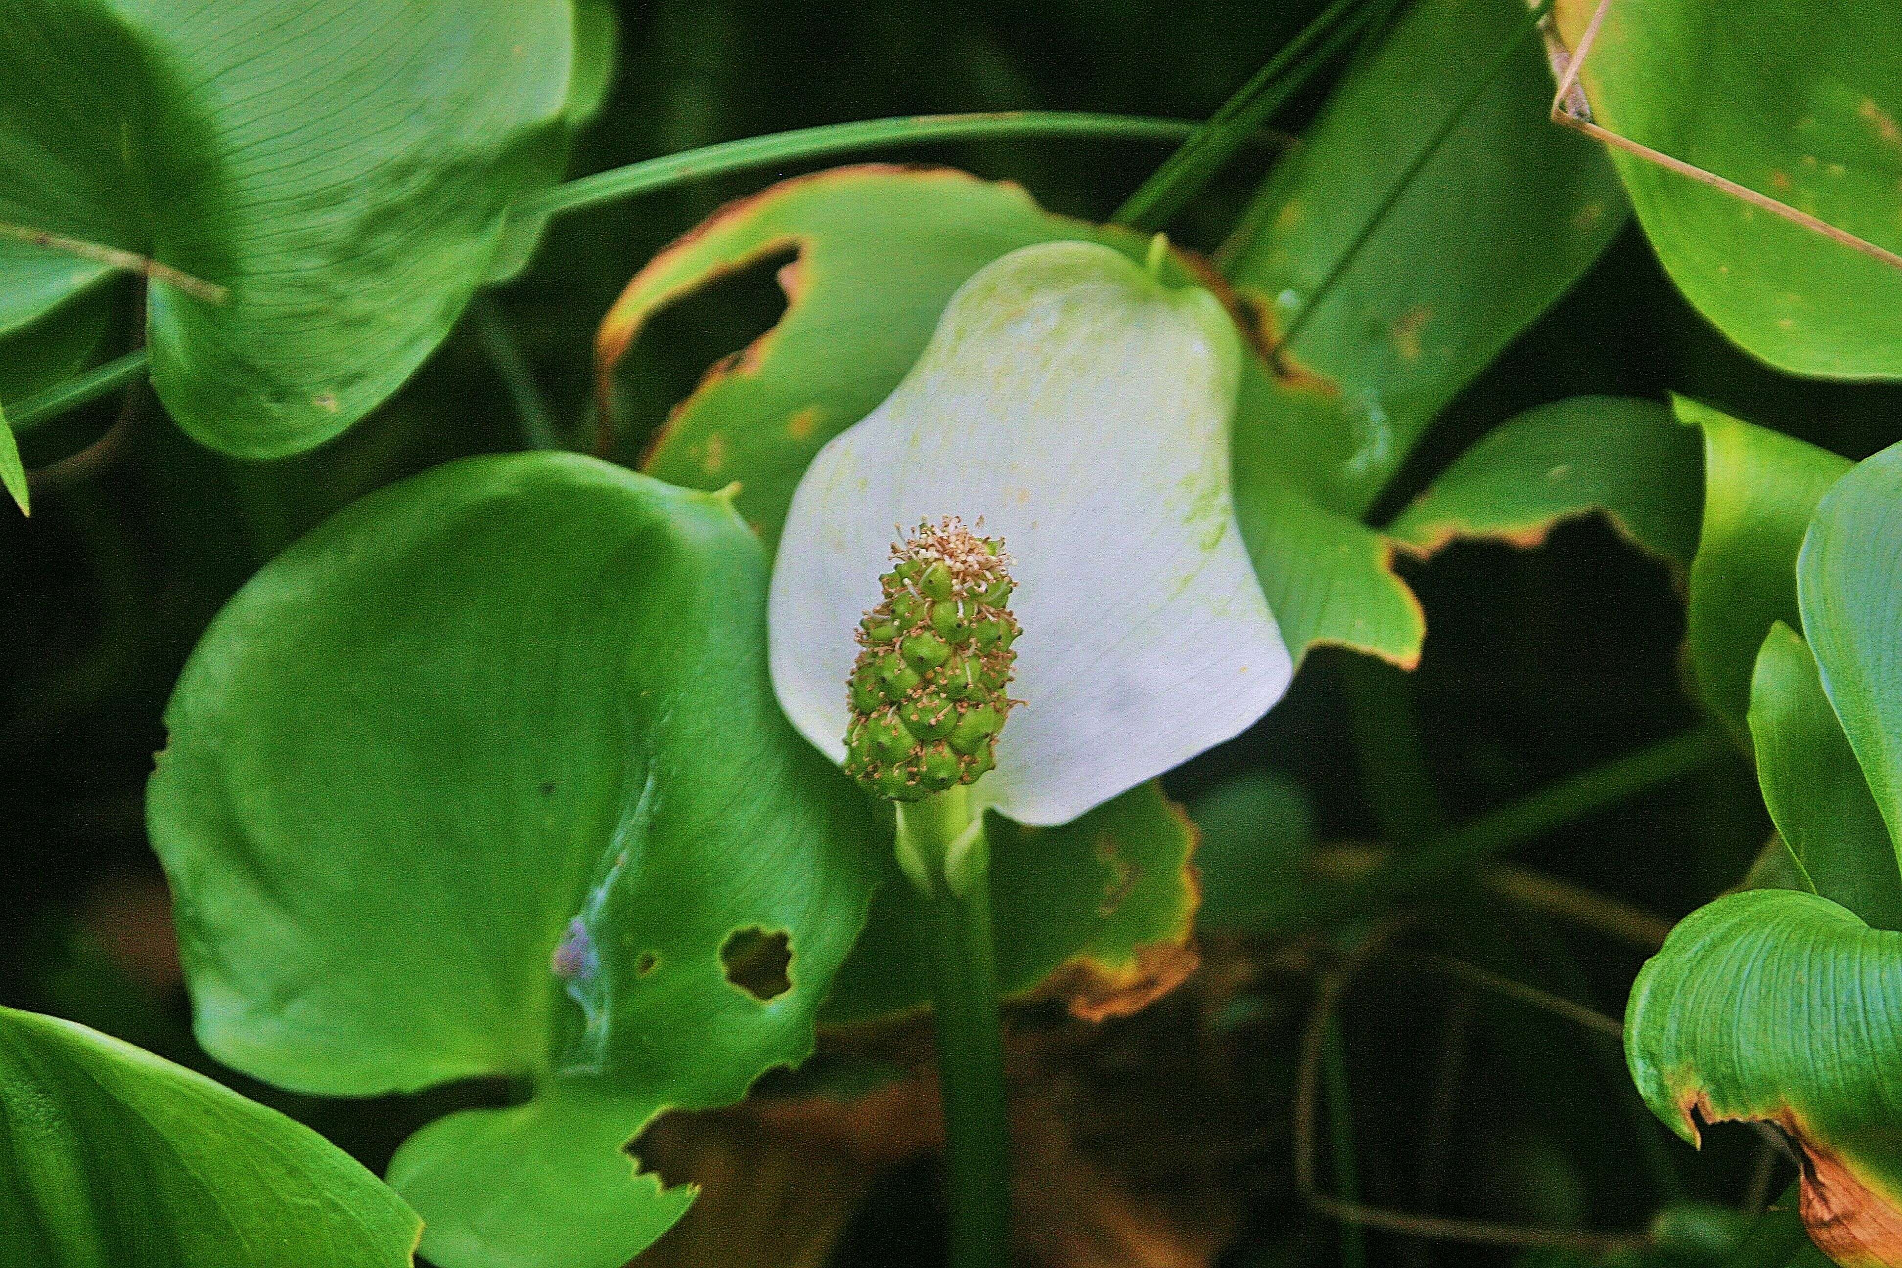
<path fill-rule="evenodd" d="M 1337 890 L 1290 892 L 1263 914 L 1263 924 L 1312 928 L 1390 903 L 1444 876 L 1468 871 L 1522 840 L 1550 833 L 1594 810 L 1615 806 L 1693 770 L 1714 766 L 1735 753 L 1723 726 L 1716 722 L 1698 726 L 1463 823 L 1423 842 L 1417 850 L 1396 850 L 1379 867 Z"/>

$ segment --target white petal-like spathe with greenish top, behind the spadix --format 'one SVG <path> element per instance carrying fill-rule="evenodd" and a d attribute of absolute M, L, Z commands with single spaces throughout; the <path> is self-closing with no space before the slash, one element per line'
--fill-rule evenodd
<path fill-rule="evenodd" d="M 768 597 L 772 684 L 835 762 L 854 629 L 909 527 L 1010 553 L 1010 722 L 980 804 L 1067 823 L 1242 732 L 1293 663 L 1229 475 L 1240 340 L 1198 287 L 1097 243 L 1023 247 L 951 298 L 890 397 L 812 460 Z"/>

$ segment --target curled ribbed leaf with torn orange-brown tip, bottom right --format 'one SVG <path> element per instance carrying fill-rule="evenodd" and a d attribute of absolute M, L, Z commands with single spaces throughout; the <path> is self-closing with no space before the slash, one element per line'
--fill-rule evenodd
<path fill-rule="evenodd" d="M 1640 971 L 1624 1057 L 1678 1135 L 1750 1120 L 1803 1150 L 1801 1213 L 1837 1264 L 1902 1255 L 1902 933 L 1813 893 L 1691 913 Z"/>

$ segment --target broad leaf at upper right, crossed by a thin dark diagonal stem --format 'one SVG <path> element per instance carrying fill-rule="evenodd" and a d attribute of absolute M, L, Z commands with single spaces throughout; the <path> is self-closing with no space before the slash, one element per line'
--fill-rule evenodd
<path fill-rule="evenodd" d="M 1284 479 L 1331 509 L 1360 515 L 1434 414 L 1624 222 L 1611 165 L 1546 120 L 1552 89 L 1537 40 L 1375 222 L 1487 55 L 1524 23 L 1516 0 L 1407 6 L 1269 177 L 1223 253 L 1265 342 L 1320 304 L 1286 354 L 1326 399 L 1290 394 L 1267 373 L 1244 378 L 1234 447 L 1272 454 Z M 1316 297 L 1368 224 L 1366 245 Z"/>

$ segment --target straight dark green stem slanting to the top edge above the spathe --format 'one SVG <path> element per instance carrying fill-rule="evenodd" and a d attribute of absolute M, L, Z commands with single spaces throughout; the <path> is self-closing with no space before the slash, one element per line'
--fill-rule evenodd
<path fill-rule="evenodd" d="M 1350 13 L 1354 8 L 1362 11 Z M 1160 228 L 1194 198 L 1231 154 L 1368 25 L 1366 0 L 1333 0 L 1282 46 L 1206 124 L 1183 141 L 1130 198 L 1113 224 Z M 1345 21 L 1343 21 L 1345 19 Z"/>

